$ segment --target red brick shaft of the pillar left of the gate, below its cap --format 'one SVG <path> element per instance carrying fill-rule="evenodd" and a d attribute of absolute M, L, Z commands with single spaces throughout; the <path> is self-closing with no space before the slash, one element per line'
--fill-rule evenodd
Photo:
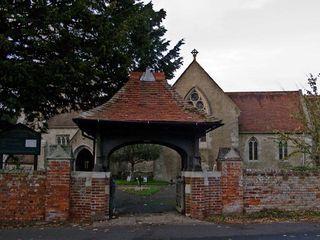
<path fill-rule="evenodd" d="M 46 221 L 66 221 L 70 209 L 70 159 L 47 159 Z"/>

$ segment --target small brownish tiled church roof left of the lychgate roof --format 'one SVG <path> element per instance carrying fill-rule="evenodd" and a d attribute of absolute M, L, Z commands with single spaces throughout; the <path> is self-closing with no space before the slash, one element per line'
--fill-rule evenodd
<path fill-rule="evenodd" d="M 48 120 L 48 128 L 78 128 L 72 121 L 78 115 L 79 112 L 57 114 Z"/>

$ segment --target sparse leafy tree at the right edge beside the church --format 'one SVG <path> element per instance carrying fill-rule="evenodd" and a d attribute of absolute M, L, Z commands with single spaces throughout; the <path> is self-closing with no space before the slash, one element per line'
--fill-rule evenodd
<path fill-rule="evenodd" d="M 310 89 L 303 95 L 303 108 L 294 117 L 302 123 L 304 135 L 279 133 L 279 141 L 290 142 L 293 151 L 288 155 L 304 153 L 310 157 L 311 163 L 320 166 L 320 96 L 318 94 L 317 80 L 320 74 L 309 74 L 308 85 Z"/>

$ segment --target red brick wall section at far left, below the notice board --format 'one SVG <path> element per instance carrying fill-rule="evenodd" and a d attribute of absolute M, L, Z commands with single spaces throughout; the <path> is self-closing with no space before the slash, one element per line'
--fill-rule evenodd
<path fill-rule="evenodd" d="M 0 222 L 44 220 L 45 193 L 45 172 L 1 172 Z"/>

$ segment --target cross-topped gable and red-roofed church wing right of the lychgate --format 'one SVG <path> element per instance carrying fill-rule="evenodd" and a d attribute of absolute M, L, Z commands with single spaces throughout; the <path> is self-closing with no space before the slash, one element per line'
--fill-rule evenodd
<path fill-rule="evenodd" d="M 301 90 L 225 92 L 197 62 L 196 54 L 193 52 L 193 61 L 172 87 L 190 104 L 224 123 L 200 139 L 202 167 L 216 169 L 219 149 L 224 147 L 238 149 L 245 168 L 303 165 L 307 156 L 291 156 L 293 144 L 280 141 L 278 135 L 285 132 L 304 137 L 303 125 L 296 118 L 304 112 Z"/>

